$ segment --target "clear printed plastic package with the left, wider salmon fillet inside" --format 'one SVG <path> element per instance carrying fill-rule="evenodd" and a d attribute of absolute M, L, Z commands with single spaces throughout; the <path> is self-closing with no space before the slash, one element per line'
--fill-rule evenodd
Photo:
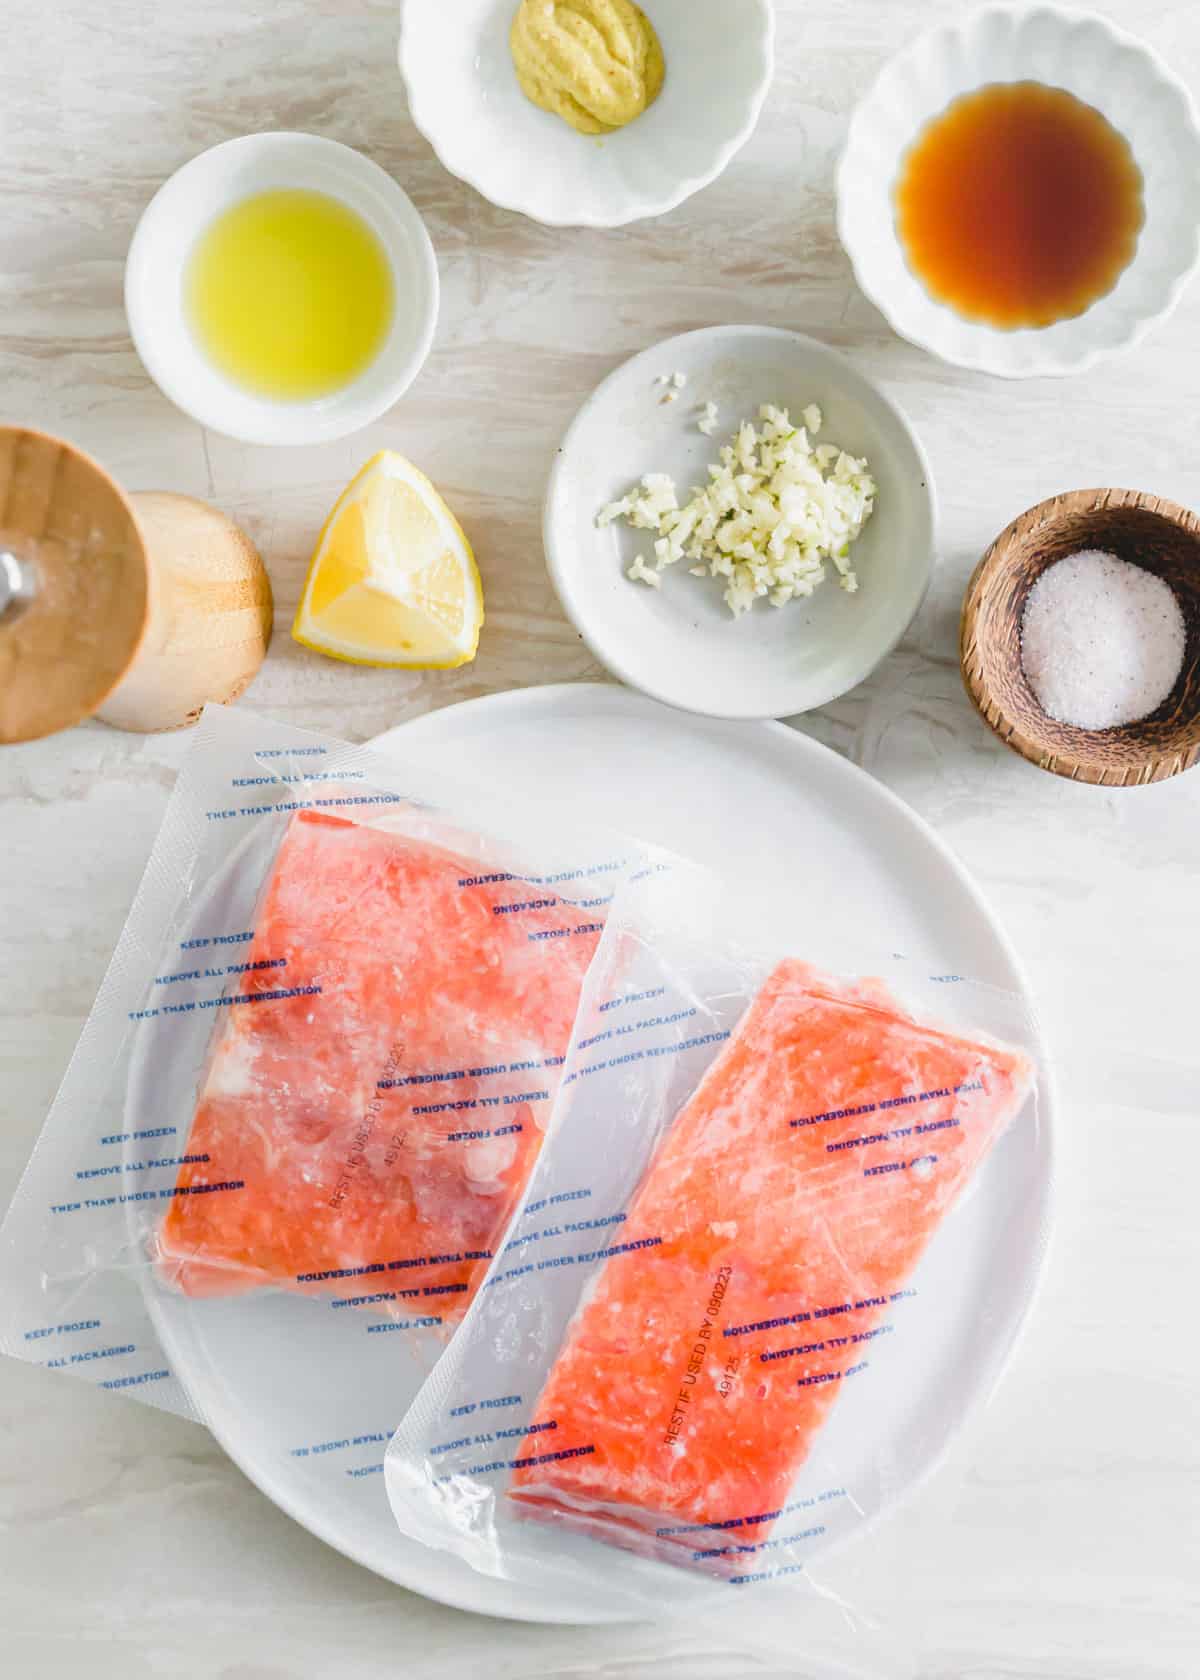
<path fill-rule="evenodd" d="M 264 1393 L 313 1314 L 341 1327 L 314 1386 L 388 1357 L 351 1322 L 432 1332 L 432 1364 L 524 1191 L 634 850 L 210 707 L 0 1231 L 3 1349 L 198 1416 L 183 1342 L 212 1371 L 235 1339 Z"/>

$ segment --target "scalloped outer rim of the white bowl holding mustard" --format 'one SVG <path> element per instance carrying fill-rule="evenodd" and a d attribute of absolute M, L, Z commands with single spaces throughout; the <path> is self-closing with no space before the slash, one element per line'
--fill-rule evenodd
<path fill-rule="evenodd" d="M 531 222 L 539 222 L 543 227 L 627 227 L 630 222 L 644 222 L 652 217 L 666 215 L 669 210 L 676 210 L 681 203 L 691 198 L 694 193 L 701 192 L 704 186 L 711 186 L 724 170 L 729 166 L 731 160 L 746 144 L 755 128 L 758 126 L 758 118 L 763 113 L 763 104 L 766 102 L 766 94 L 770 92 L 771 81 L 775 77 L 775 7 L 773 0 L 739 0 L 746 10 L 753 8 L 755 18 L 760 27 L 760 71 L 755 87 L 748 92 L 746 106 L 743 111 L 741 123 L 736 131 L 718 146 L 711 161 L 694 175 L 687 175 L 671 188 L 669 193 L 652 198 L 634 198 L 630 195 L 629 208 L 620 215 L 610 213 L 590 213 L 580 210 L 573 215 L 555 215 L 546 213 L 533 207 L 529 198 L 521 198 L 519 193 L 509 193 L 503 190 L 494 190 L 491 185 L 484 185 L 479 171 L 464 165 L 461 160 L 454 163 L 449 160 L 445 148 L 437 138 L 437 124 L 430 123 L 427 116 L 422 114 L 424 101 L 420 97 L 420 82 L 413 72 L 413 66 L 408 62 L 408 47 L 412 44 L 412 34 L 407 29 L 408 24 L 408 7 L 413 0 L 405 0 L 400 12 L 400 39 L 397 42 L 397 64 L 400 67 L 400 76 L 405 84 L 408 96 L 408 116 L 413 126 L 434 148 L 437 161 L 442 168 L 454 175 L 457 180 L 466 181 L 467 186 L 474 188 L 481 198 L 494 203 L 499 210 L 514 210 L 518 215 L 529 217 Z M 499 0 L 497 0 L 499 3 Z M 516 7 L 516 0 L 513 0 Z"/>

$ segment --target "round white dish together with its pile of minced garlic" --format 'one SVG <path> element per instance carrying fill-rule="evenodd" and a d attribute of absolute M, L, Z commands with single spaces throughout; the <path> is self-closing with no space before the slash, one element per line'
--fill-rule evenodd
<path fill-rule="evenodd" d="M 608 375 L 545 507 L 550 575 L 624 682 L 713 717 L 837 699 L 899 642 L 934 494 L 904 415 L 802 333 L 684 333 Z"/>

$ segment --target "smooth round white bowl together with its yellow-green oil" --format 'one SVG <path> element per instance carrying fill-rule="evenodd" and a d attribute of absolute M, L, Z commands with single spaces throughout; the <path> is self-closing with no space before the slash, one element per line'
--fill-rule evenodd
<path fill-rule="evenodd" d="M 437 297 L 408 195 L 314 134 L 247 134 L 185 163 L 124 270 L 150 376 L 244 444 L 321 444 L 378 418 L 429 354 Z"/>

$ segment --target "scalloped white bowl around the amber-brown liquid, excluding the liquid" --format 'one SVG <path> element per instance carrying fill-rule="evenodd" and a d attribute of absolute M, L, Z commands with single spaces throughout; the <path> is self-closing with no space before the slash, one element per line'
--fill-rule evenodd
<path fill-rule="evenodd" d="M 1047 82 L 1101 111 L 1143 173 L 1146 222 L 1108 296 L 1069 321 L 1002 331 L 936 302 L 896 232 L 899 161 L 924 124 L 988 82 Z M 901 338 L 961 368 L 1081 373 L 1129 349 L 1178 302 L 1200 257 L 1200 133 L 1188 91 L 1133 35 L 1057 7 L 987 7 L 929 30 L 884 66 L 850 119 L 837 230 L 867 297 Z"/>

